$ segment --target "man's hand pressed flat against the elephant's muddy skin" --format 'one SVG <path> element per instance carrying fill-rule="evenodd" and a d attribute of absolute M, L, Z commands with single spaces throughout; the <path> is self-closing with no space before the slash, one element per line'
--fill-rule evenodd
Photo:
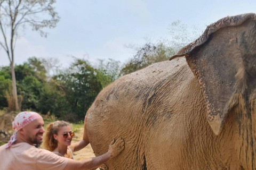
<path fill-rule="evenodd" d="M 113 139 L 113 141 L 111 141 L 108 147 L 108 152 L 111 155 L 111 158 L 116 157 L 123 150 L 124 150 L 124 140 L 122 138 L 118 138 L 116 141 L 115 139 Z"/>

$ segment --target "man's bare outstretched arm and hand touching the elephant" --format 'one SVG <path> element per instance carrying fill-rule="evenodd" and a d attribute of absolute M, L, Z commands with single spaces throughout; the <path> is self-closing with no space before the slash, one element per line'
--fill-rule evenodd
<path fill-rule="evenodd" d="M 74 170 L 74 169 L 91 169 L 95 167 L 99 167 L 101 164 L 107 162 L 109 159 L 116 157 L 124 150 L 124 140 L 119 138 L 113 140 L 110 145 L 108 152 L 103 155 L 89 158 L 81 161 L 75 161 L 73 159 L 68 159 L 67 166 L 63 170 Z"/>

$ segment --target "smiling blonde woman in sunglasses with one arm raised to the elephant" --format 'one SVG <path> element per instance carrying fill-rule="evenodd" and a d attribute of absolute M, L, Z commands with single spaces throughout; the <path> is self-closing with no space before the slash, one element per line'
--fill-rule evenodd
<path fill-rule="evenodd" d="M 52 151 L 54 154 L 66 158 L 74 159 L 73 152 L 83 149 L 89 144 L 86 137 L 86 117 L 84 123 L 83 140 L 71 143 L 75 133 L 71 126 L 65 121 L 55 121 L 46 128 L 46 134 L 43 141 L 43 148 Z"/>

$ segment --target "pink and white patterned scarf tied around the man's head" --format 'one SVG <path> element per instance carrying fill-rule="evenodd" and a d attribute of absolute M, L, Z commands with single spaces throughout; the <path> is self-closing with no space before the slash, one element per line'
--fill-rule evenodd
<path fill-rule="evenodd" d="M 17 140 L 17 132 L 28 125 L 30 122 L 36 120 L 37 118 L 40 118 L 38 113 L 36 112 L 21 112 L 19 113 L 12 122 L 12 128 L 15 131 L 13 135 L 11 136 L 11 139 L 9 140 L 8 144 L 5 148 L 9 148 L 13 143 Z"/>

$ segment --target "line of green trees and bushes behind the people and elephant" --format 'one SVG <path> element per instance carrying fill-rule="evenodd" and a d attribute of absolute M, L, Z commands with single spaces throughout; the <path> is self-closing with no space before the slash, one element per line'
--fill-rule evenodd
<path fill-rule="evenodd" d="M 119 77 L 165 60 L 174 54 L 163 43 L 146 43 L 127 63 L 109 59 L 89 61 L 74 58 L 68 69 L 60 69 L 54 58 L 31 57 L 15 65 L 21 111 L 31 110 L 70 122 L 83 120 L 99 92 Z M 0 67 L 0 109 L 12 110 L 11 71 Z"/>

